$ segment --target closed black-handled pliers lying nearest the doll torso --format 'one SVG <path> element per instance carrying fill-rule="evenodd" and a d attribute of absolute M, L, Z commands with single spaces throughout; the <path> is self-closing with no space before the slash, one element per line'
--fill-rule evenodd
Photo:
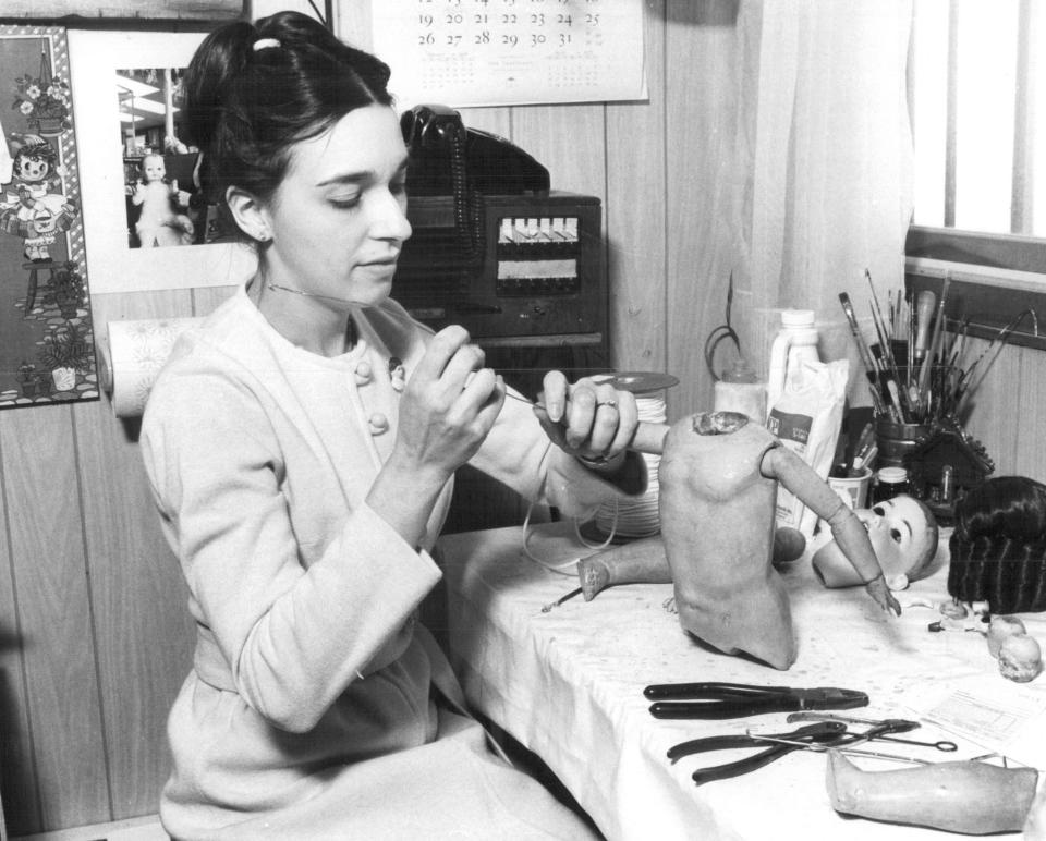
<path fill-rule="evenodd" d="M 725 719 L 798 709 L 852 709 L 868 704 L 865 693 L 835 686 L 798 690 L 744 683 L 657 683 L 643 694 L 655 702 L 650 705 L 654 718 Z"/>

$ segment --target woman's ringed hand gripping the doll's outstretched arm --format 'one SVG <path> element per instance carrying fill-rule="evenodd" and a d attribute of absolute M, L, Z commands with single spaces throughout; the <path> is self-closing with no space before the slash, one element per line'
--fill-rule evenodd
<path fill-rule="evenodd" d="M 588 377 L 570 385 L 558 370 L 545 375 L 544 387 L 535 414 L 552 442 L 581 459 L 620 463 L 640 423 L 635 397 Z"/>

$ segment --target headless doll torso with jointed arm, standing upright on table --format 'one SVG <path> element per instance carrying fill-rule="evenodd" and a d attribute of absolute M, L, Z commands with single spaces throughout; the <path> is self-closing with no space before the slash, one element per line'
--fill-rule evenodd
<path fill-rule="evenodd" d="M 861 521 L 763 427 L 732 412 L 677 422 L 664 437 L 659 512 L 683 630 L 726 654 L 788 669 L 798 650 L 773 565 L 780 483 L 831 527 L 885 610 L 900 612 Z"/>

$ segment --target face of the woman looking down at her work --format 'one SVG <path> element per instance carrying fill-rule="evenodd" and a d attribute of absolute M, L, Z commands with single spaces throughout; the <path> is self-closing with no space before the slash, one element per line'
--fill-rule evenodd
<path fill-rule="evenodd" d="M 272 200 L 266 280 L 365 305 L 388 297 L 411 235 L 406 148 L 396 112 L 372 105 L 293 147 Z M 319 298 L 323 301 L 324 298 Z"/>

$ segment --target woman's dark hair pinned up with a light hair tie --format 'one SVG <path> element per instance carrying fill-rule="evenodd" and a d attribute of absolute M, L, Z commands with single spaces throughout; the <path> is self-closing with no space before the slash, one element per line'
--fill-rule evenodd
<path fill-rule="evenodd" d="M 271 198 L 293 144 L 356 108 L 392 105 L 389 75 L 379 59 L 299 12 L 214 31 L 182 81 L 181 131 L 203 154 L 204 195 L 220 204 L 235 185 Z"/>

